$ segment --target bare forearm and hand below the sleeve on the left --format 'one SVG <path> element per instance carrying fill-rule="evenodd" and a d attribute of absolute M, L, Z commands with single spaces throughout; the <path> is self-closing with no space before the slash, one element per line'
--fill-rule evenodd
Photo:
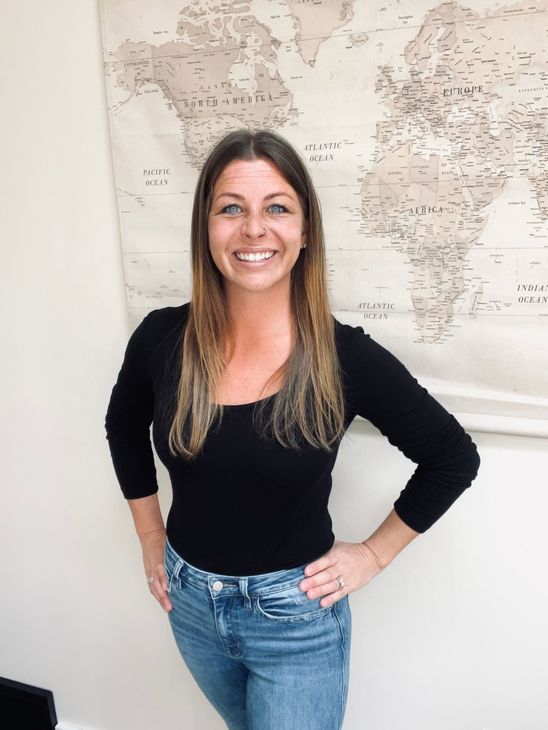
<path fill-rule="evenodd" d="M 154 579 L 148 584 L 150 592 L 165 611 L 171 611 L 172 605 L 167 593 L 167 576 L 164 570 L 166 529 L 158 495 L 128 499 L 127 502 L 143 551 L 145 575 L 147 579 Z"/>

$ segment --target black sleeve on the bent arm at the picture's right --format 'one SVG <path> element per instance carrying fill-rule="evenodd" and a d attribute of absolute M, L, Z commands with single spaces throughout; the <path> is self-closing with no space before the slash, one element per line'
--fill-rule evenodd
<path fill-rule="evenodd" d="M 361 327 L 349 329 L 344 370 L 351 412 L 417 464 L 394 509 L 413 530 L 425 532 L 476 477 L 476 446 L 394 355 Z"/>

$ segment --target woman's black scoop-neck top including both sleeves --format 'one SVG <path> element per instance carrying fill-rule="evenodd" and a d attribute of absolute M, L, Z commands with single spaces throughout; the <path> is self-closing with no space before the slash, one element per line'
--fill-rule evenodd
<path fill-rule="evenodd" d="M 188 304 L 148 314 L 131 335 L 106 414 L 106 438 L 127 499 L 158 490 L 150 440 L 167 468 L 173 502 L 167 536 L 189 563 L 225 575 L 255 575 L 310 562 L 334 542 L 328 500 L 338 445 L 298 451 L 260 438 L 253 403 L 224 407 L 193 461 L 171 455 L 169 418 Z M 470 436 L 404 365 L 364 333 L 335 322 L 346 403 L 345 427 L 363 416 L 417 464 L 394 502 L 424 532 L 477 474 Z M 272 396 L 265 399 L 266 407 Z M 363 463 L 364 487 L 367 463 Z"/>

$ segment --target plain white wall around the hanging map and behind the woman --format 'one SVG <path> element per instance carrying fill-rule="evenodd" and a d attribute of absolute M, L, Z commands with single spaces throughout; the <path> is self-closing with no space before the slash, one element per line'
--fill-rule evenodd
<path fill-rule="evenodd" d="M 104 436 L 129 331 L 98 9 L 2 3 L 0 34 L 0 675 L 52 689 L 67 730 L 219 730 L 148 596 Z M 351 598 L 347 730 L 548 726 L 547 444 L 472 435 L 473 487 Z M 353 427 L 337 536 L 367 536 L 412 468 Z"/>

